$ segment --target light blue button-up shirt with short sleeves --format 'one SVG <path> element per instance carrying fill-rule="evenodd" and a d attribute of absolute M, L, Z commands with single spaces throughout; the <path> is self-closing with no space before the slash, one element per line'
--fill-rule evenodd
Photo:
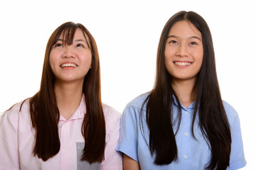
<path fill-rule="evenodd" d="M 196 136 L 196 139 L 191 133 L 194 103 L 188 106 L 188 108 L 185 108 L 181 104 L 181 125 L 176 134 L 176 145 L 178 147 L 177 161 L 162 166 L 154 164 L 155 155 L 152 157 L 149 150 L 149 129 L 146 125 L 146 120 L 142 119 L 143 126 L 141 126 L 141 120 L 139 119 L 142 103 L 148 95 L 149 93 L 146 93 L 135 98 L 128 103 L 127 107 L 124 109 L 121 120 L 119 143 L 116 150 L 127 154 L 127 156 L 139 162 L 142 170 L 205 169 L 210 161 L 211 152 L 206 140 L 203 138 L 200 128 L 198 127 L 197 118 L 194 126 L 194 135 Z M 178 105 L 176 102 L 177 101 L 175 101 L 173 105 L 174 119 L 178 115 Z M 232 137 L 230 166 L 228 166 L 228 169 L 240 169 L 245 166 L 246 162 L 242 147 L 238 113 L 225 101 L 223 101 L 223 105 L 230 123 Z M 144 108 L 143 116 L 145 115 L 146 109 Z M 177 125 L 174 125 L 174 132 L 176 132 L 176 130 Z"/>

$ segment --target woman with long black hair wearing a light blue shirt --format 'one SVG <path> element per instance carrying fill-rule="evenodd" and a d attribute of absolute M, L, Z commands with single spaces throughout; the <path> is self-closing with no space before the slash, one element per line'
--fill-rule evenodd
<path fill-rule="evenodd" d="M 240 169 L 238 113 L 222 101 L 204 19 L 180 11 L 159 40 L 154 89 L 124 109 L 117 150 L 126 169 Z"/>

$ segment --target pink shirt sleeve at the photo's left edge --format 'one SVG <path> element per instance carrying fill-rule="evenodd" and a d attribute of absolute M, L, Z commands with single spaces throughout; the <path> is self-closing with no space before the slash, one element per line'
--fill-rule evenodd
<path fill-rule="evenodd" d="M 19 169 L 17 109 L 14 106 L 0 116 L 0 169 Z"/>

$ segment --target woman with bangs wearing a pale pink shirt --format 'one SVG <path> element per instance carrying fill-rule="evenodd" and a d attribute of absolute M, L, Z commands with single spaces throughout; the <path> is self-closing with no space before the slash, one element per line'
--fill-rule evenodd
<path fill-rule="evenodd" d="M 0 117 L 0 169 L 122 169 L 120 117 L 101 101 L 94 38 L 63 23 L 48 40 L 38 93 Z"/>

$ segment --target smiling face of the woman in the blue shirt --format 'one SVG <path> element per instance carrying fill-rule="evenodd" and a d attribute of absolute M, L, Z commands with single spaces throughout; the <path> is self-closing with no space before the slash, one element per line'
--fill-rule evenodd
<path fill-rule="evenodd" d="M 164 52 L 166 69 L 177 80 L 196 80 L 203 62 L 203 42 L 200 31 L 188 21 L 172 26 Z"/>

